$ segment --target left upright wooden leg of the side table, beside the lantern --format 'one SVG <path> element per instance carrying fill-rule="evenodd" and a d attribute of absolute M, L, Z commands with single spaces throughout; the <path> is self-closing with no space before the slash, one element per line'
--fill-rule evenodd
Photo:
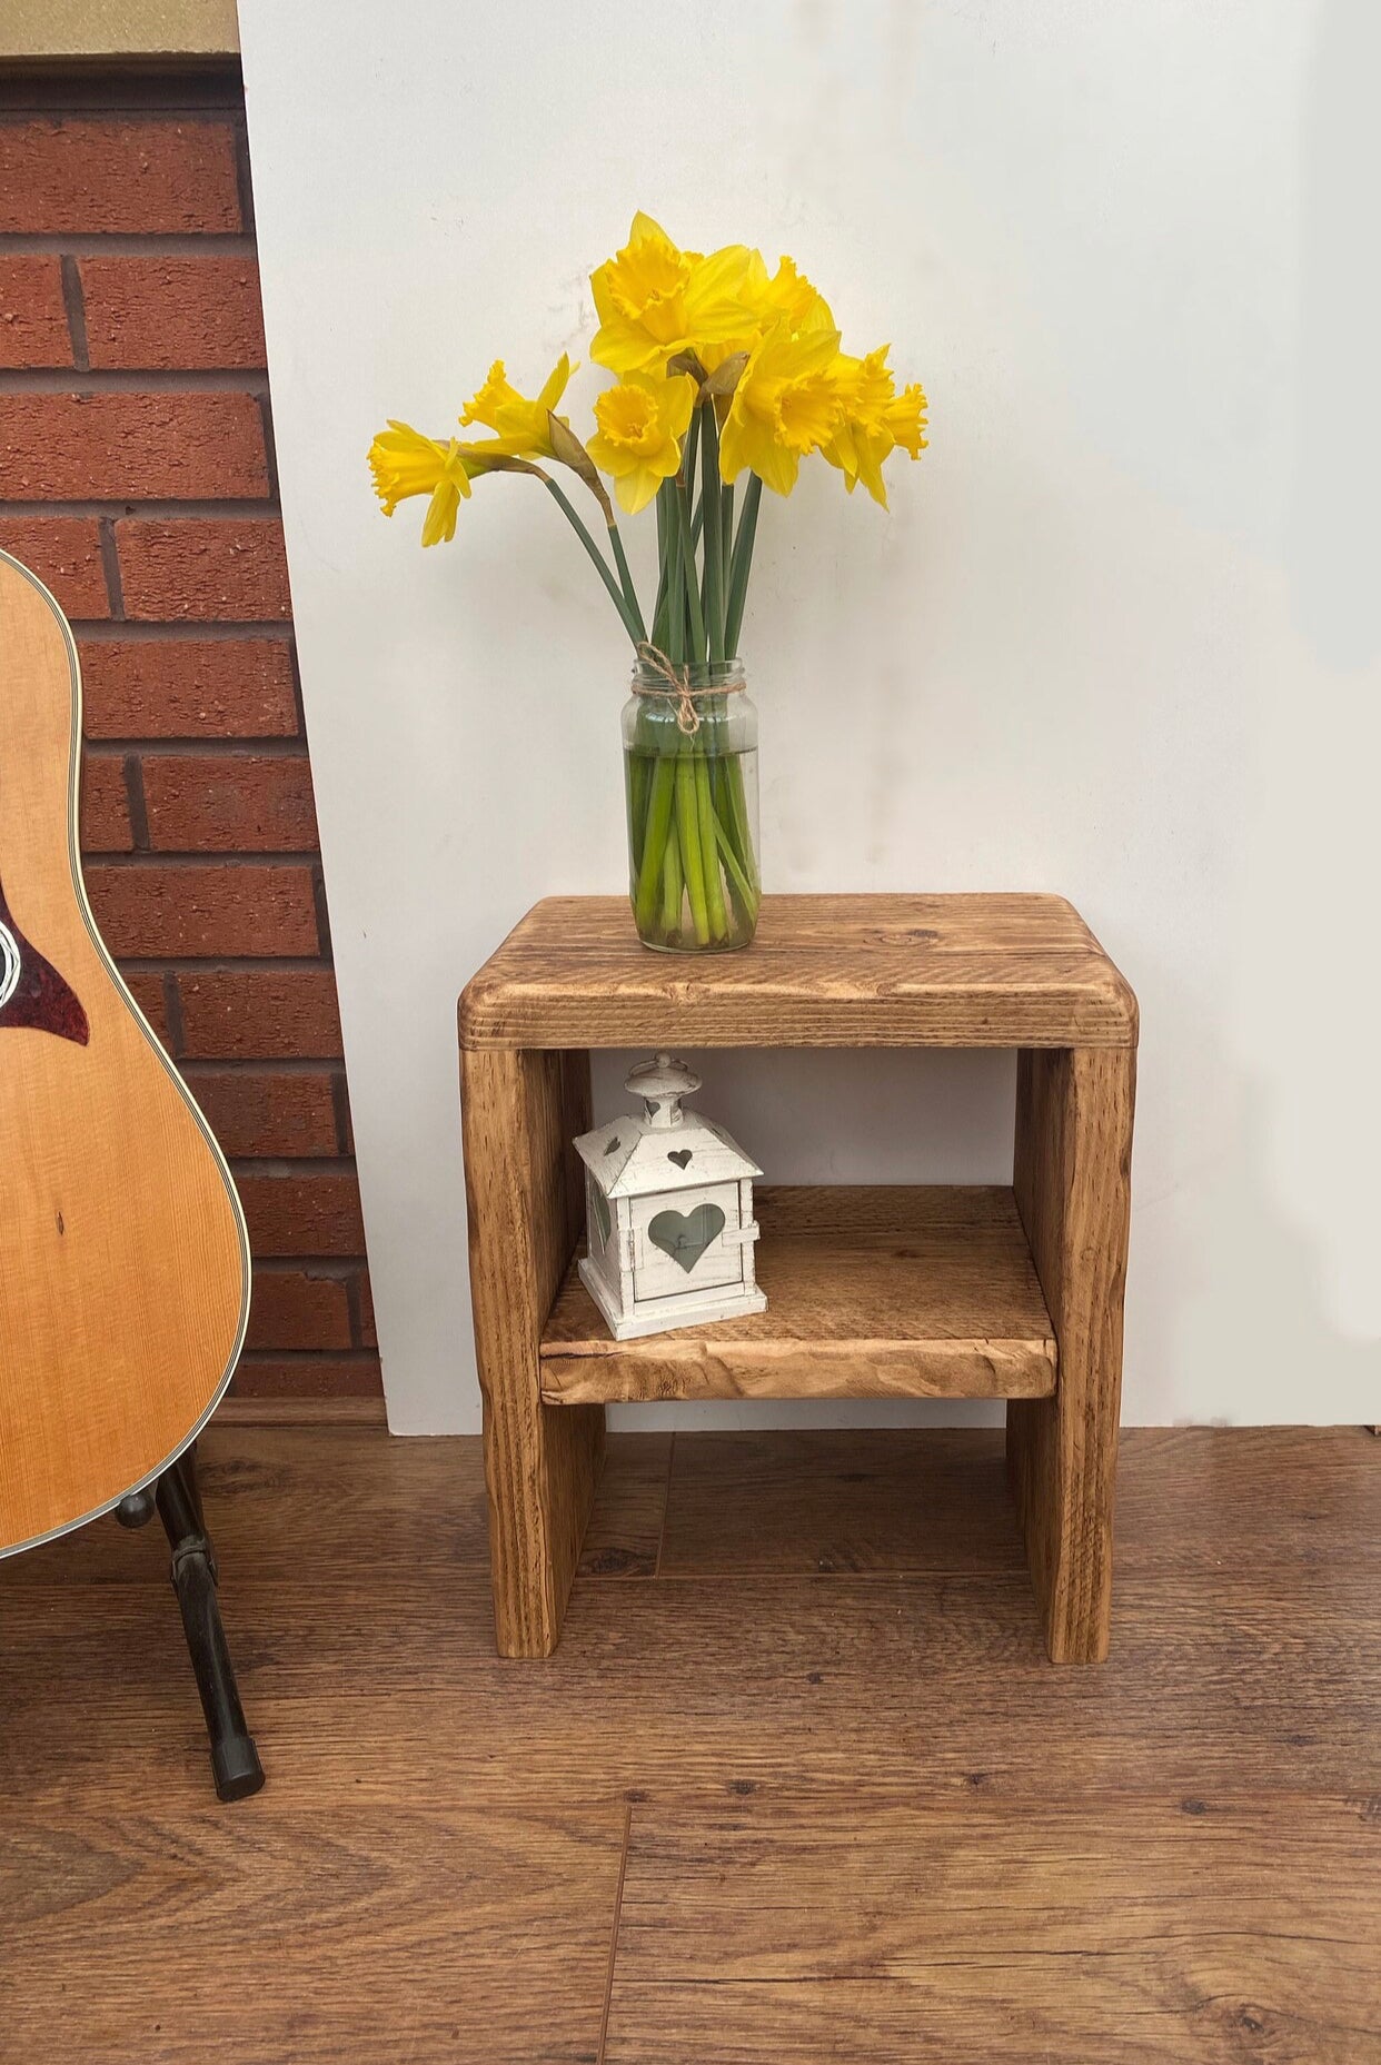
<path fill-rule="evenodd" d="M 460 1109 L 493 1625 L 502 1656 L 549 1656 L 605 1450 L 603 1406 L 547 1406 L 539 1390 L 541 1330 L 584 1218 L 570 1142 L 590 1125 L 590 1057 L 462 1051 Z"/>

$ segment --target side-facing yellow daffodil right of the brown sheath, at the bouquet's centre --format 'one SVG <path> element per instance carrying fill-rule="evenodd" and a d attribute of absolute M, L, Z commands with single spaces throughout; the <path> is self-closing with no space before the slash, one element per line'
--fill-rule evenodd
<path fill-rule="evenodd" d="M 791 494 L 805 454 L 830 444 L 840 427 L 840 394 L 830 376 L 838 347 L 838 330 L 793 337 L 786 320 L 764 337 L 725 417 L 718 463 L 727 481 L 751 467 L 766 487 Z"/>

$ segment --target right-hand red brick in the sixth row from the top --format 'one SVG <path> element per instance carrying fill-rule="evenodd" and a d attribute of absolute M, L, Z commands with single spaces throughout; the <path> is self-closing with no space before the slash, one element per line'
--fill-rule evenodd
<path fill-rule="evenodd" d="M 314 853 L 306 754 L 147 754 L 149 843 L 157 853 Z"/>

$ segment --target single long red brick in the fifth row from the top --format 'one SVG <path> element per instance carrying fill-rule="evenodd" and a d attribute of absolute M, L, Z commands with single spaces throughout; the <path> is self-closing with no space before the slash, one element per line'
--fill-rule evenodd
<path fill-rule="evenodd" d="M 287 739 L 297 731 L 285 638 L 83 640 L 81 669 L 89 739 Z"/>

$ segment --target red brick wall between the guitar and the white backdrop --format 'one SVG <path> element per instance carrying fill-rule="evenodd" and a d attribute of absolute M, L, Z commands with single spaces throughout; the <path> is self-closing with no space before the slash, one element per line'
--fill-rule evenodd
<path fill-rule="evenodd" d="M 97 921 L 231 1158 L 235 1390 L 380 1390 L 231 76 L 0 105 L 0 545 L 74 622 Z"/>

